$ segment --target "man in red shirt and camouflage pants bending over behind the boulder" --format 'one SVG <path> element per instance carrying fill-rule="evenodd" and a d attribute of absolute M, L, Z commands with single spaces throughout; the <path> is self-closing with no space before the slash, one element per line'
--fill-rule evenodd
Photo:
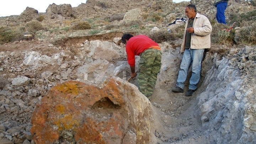
<path fill-rule="evenodd" d="M 161 68 L 161 48 L 156 42 L 145 35 L 133 36 L 132 34 L 124 34 L 122 36 L 122 43 L 126 44 L 127 60 L 132 71 L 132 78 L 136 76 L 135 55 L 140 56 L 137 76 L 138 89 L 150 99 Z"/>

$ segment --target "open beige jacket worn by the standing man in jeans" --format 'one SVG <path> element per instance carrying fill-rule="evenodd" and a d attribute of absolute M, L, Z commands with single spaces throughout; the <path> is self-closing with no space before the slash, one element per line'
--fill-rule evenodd
<path fill-rule="evenodd" d="M 183 41 L 181 43 L 181 53 L 183 53 L 185 50 L 187 25 L 188 20 L 185 26 Z M 212 32 L 212 25 L 210 24 L 208 18 L 197 13 L 196 17 L 194 18 L 193 28 L 194 33 L 191 34 L 191 49 L 210 48 L 210 33 Z"/>

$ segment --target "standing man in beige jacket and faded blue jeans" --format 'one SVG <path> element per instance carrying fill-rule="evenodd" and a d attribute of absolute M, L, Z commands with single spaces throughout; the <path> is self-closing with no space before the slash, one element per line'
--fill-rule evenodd
<path fill-rule="evenodd" d="M 178 73 L 177 84 L 172 88 L 173 92 L 183 92 L 187 78 L 188 68 L 191 65 L 192 76 L 190 85 L 185 96 L 191 96 L 197 89 L 197 83 L 200 79 L 201 62 L 204 49 L 210 48 L 210 33 L 212 26 L 206 16 L 196 12 L 196 6 L 187 5 L 185 9 L 188 21 L 186 22 L 183 41 L 180 52 L 184 52 Z"/>

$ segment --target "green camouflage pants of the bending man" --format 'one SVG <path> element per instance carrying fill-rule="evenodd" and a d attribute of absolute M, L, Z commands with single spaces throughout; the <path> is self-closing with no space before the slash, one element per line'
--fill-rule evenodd
<path fill-rule="evenodd" d="M 140 54 L 138 70 L 138 88 L 146 97 L 150 98 L 154 92 L 156 77 L 161 68 L 162 53 L 150 48 Z"/>

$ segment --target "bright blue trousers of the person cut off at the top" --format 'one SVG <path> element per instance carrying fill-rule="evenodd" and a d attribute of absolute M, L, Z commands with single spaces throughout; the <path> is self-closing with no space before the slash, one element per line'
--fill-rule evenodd
<path fill-rule="evenodd" d="M 220 2 L 219 4 L 216 5 L 217 7 L 216 19 L 218 23 L 223 23 L 226 25 L 225 10 L 227 6 L 228 6 L 228 3 L 226 2 Z"/>

